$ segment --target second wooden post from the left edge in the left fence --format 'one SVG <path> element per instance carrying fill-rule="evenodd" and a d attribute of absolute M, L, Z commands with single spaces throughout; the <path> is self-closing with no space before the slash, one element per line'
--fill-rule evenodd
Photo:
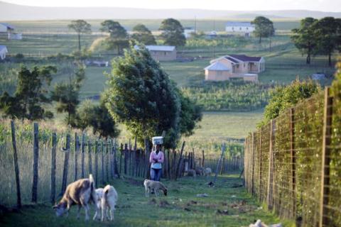
<path fill-rule="evenodd" d="M 33 180 L 32 202 L 37 202 L 38 196 L 38 163 L 39 163 L 39 129 L 38 123 L 33 123 Z"/>

